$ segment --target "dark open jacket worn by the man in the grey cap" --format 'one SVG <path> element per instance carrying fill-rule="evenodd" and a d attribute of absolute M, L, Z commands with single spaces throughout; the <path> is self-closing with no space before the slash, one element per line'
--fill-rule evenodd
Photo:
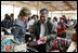
<path fill-rule="evenodd" d="M 41 22 L 38 21 L 34 25 L 32 31 L 31 31 L 34 34 L 34 38 L 36 38 L 37 40 L 39 39 L 39 36 L 40 36 L 40 25 L 41 25 Z M 52 49 L 52 45 L 54 44 L 54 39 L 56 38 L 57 30 L 56 30 L 56 26 L 49 21 L 44 24 L 44 26 L 46 26 L 44 36 L 47 37 L 46 51 L 49 51 Z"/>

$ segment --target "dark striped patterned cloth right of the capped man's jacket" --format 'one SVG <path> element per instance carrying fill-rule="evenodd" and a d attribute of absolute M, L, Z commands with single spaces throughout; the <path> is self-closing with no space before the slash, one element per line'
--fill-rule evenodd
<path fill-rule="evenodd" d="M 57 38 L 57 47 L 61 51 L 66 51 L 72 43 L 72 39 Z"/>

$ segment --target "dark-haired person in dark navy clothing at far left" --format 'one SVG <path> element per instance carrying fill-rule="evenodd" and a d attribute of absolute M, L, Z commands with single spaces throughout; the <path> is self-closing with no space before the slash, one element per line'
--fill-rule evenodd
<path fill-rule="evenodd" d="M 13 22 L 11 22 L 11 17 L 5 14 L 4 19 L 1 22 L 1 27 L 10 29 L 13 26 Z"/>

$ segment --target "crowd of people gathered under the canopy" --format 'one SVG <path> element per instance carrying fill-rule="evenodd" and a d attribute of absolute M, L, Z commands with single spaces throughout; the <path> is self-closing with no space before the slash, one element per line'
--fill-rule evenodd
<path fill-rule="evenodd" d="M 14 39 L 22 43 L 26 43 L 26 32 L 32 34 L 34 41 L 41 39 L 44 43 L 39 45 L 37 50 L 48 52 L 52 49 L 56 37 L 66 38 L 66 29 L 77 25 L 76 19 L 67 19 L 65 15 L 61 16 L 60 22 L 57 22 L 56 16 L 51 19 L 48 14 L 47 9 L 41 9 L 40 16 L 36 14 L 30 16 L 30 10 L 23 8 L 16 19 L 14 19 L 13 13 L 11 15 L 5 14 L 1 27 L 11 28 Z"/>

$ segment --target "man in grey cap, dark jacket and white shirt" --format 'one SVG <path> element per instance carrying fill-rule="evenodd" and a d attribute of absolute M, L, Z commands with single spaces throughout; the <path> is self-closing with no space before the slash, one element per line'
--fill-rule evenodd
<path fill-rule="evenodd" d="M 31 31 L 31 34 L 34 34 L 34 39 L 41 39 L 44 43 L 37 47 L 39 52 L 48 52 L 52 50 L 57 34 L 55 25 L 47 21 L 48 14 L 49 11 L 47 9 L 40 10 L 40 19 L 35 23 Z"/>

